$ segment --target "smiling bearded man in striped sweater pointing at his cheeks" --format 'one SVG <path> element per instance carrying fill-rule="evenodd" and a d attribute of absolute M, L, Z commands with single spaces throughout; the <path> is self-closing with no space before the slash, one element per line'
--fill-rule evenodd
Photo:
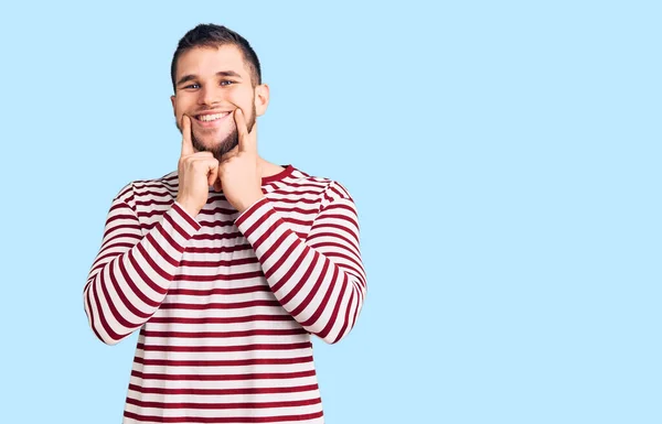
<path fill-rule="evenodd" d="M 196 26 L 171 73 L 178 171 L 119 192 L 84 289 L 104 343 L 140 328 L 124 422 L 321 423 L 310 335 L 346 336 L 366 291 L 354 203 L 259 156 L 241 35 Z"/>

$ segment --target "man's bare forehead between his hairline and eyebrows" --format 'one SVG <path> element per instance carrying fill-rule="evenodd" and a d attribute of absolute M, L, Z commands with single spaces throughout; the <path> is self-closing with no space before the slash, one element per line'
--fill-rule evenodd
<path fill-rule="evenodd" d="M 177 61 L 175 79 L 182 75 L 214 76 L 221 70 L 234 70 L 248 77 L 244 56 L 236 46 L 193 47 L 182 53 Z"/>

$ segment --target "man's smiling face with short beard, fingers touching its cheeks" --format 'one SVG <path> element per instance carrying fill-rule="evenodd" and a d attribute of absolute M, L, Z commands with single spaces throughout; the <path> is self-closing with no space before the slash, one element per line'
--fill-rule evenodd
<path fill-rule="evenodd" d="M 178 58 L 175 94 L 171 97 L 177 127 L 191 118 L 193 148 L 221 159 L 238 144 L 233 112 L 239 108 L 248 131 L 267 108 L 269 89 L 253 87 L 242 52 L 234 45 L 191 48 Z"/>

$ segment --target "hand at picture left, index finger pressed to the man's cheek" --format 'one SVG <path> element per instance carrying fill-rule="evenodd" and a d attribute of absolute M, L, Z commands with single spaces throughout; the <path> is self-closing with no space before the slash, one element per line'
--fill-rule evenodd
<path fill-rule="evenodd" d="M 182 154 L 178 165 L 177 202 L 191 216 L 206 204 L 210 185 L 218 178 L 218 161 L 211 152 L 195 152 L 191 141 L 191 118 L 182 117 Z"/>

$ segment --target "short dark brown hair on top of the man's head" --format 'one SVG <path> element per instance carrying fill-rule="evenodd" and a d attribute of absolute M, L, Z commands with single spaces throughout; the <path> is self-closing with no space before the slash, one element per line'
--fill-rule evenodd
<path fill-rule="evenodd" d="M 259 59 L 257 58 L 253 47 L 250 47 L 248 41 L 223 25 L 201 23 L 184 34 L 177 45 L 177 50 L 172 56 L 172 63 L 170 64 L 172 90 L 177 93 L 174 83 L 177 74 L 177 61 L 182 53 L 194 47 L 221 47 L 223 45 L 234 45 L 239 50 L 239 52 L 242 52 L 242 55 L 244 56 L 244 63 L 247 65 L 248 72 L 250 73 L 250 83 L 253 84 L 253 87 L 260 85 L 261 69 L 259 67 Z"/>

